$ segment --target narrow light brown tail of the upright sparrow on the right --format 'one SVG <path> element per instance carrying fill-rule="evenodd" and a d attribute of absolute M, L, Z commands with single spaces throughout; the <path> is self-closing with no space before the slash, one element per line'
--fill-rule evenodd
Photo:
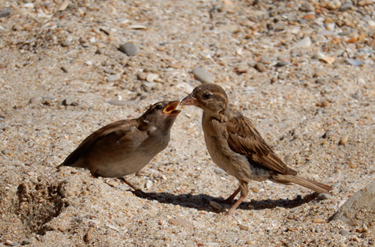
<path fill-rule="evenodd" d="M 295 183 L 318 193 L 329 193 L 329 191 L 332 190 L 332 186 L 294 175 L 277 174 L 276 176 L 272 177 L 272 180 L 282 184 Z"/>

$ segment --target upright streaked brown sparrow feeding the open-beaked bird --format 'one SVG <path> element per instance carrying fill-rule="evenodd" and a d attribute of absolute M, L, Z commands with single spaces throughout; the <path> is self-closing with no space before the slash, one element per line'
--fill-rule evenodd
<path fill-rule="evenodd" d="M 194 105 L 203 110 L 204 139 L 213 162 L 239 181 L 239 188 L 225 200 L 233 203 L 241 192 L 227 215 L 232 215 L 247 197 L 251 180 L 295 183 L 319 193 L 328 193 L 332 189 L 331 186 L 299 177 L 297 171 L 286 166 L 250 119 L 228 109 L 228 97 L 222 87 L 212 83 L 202 84 L 194 88 L 181 105 Z"/>

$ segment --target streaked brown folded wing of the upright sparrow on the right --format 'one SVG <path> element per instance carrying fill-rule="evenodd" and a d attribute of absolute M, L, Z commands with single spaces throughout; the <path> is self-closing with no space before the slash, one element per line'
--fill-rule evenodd
<path fill-rule="evenodd" d="M 227 131 L 229 147 L 245 155 L 249 162 L 281 174 L 296 174 L 296 171 L 288 168 L 272 151 L 248 118 L 244 116 L 230 118 L 227 122 Z"/>

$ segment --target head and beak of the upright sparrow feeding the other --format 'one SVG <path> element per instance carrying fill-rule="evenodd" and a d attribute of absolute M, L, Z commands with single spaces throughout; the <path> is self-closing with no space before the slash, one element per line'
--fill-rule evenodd
<path fill-rule="evenodd" d="M 213 83 L 201 84 L 181 101 L 181 105 L 195 105 L 206 114 L 221 118 L 228 105 L 228 97 L 224 89 Z"/>

